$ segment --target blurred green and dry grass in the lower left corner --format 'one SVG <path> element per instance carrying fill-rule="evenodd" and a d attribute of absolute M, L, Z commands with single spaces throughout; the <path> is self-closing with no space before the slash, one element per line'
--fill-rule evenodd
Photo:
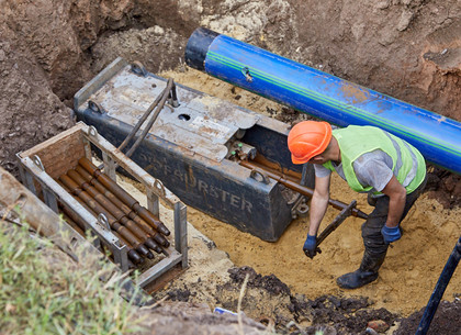
<path fill-rule="evenodd" d="M 0 221 L 0 334 L 130 334 L 140 331 L 123 278 L 106 261 L 79 264 L 27 225 Z M 98 270 L 86 266 L 98 261 Z M 106 278 L 104 282 L 100 278 Z"/>

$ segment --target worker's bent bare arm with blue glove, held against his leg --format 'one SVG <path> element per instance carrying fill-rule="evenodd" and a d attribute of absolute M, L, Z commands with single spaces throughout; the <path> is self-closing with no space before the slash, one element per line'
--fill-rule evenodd
<path fill-rule="evenodd" d="M 389 244 L 401 238 L 398 223 L 401 222 L 405 209 L 406 190 L 395 176 L 392 176 L 391 180 L 381 192 L 389 197 L 387 220 L 381 230 L 384 243 Z"/>

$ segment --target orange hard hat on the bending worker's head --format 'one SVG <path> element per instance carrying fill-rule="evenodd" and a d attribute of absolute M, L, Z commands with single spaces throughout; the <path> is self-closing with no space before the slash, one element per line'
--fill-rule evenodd
<path fill-rule="evenodd" d="M 324 121 L 303 121 L 289 133 L 288 145 L 293 164 L 307 163 L 322 154 L 331 139 L 331 125 Z"/>

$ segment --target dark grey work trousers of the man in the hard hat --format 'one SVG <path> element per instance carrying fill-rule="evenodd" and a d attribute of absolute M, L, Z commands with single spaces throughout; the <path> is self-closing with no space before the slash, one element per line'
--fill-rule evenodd
<path fill-rule="evenodd" d="M 406 194 L 404 212 L 398 223 L 405 219 L 416 199 L 418 199 L 418 197 L 423 193 L 426 183 L 427 175 L 425 180 L 416 190 L 409 194 Z M 373 212 L 371 212 L 371 214 L 368 216 L 367 221 L 362 224 L 362 238 L 366 249 L 360 269 L 362 271 L 378 272 L 379 268 L 384 261 L 389 248 L 389 244 L 384 243 L 384 237 L 381 234 L 381 228 L 384 226 L 387 220 L 389 197 L 379 197 L 374 198 L 373 200 L 375 200 L 375 204 L 370 204 L 374 205 L 375 208 Z"/>

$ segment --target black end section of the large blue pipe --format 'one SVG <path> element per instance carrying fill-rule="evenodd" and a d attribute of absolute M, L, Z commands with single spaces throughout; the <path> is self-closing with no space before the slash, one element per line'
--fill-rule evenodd
<path fill-rule="evenodd" d="M 185 45 L 185 64 L 190 67 L 203 71 L 205 69 L 205 57 L 209 47 L 220 34 L 206 27 L 198 27 L 189 37 Z"/>

